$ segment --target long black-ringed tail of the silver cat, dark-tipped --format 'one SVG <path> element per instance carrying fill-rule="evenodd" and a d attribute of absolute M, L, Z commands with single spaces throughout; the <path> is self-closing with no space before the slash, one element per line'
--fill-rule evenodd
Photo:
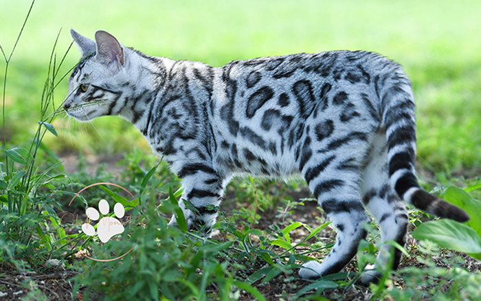
<path fill-rule="evenodd" d="M 392 65 L 390 66 L 392 68 Z M 390 68 L 390 69 L 391 69 Z M 421 189 L 416 180 L 416 115 L 411 82 L 400 66 L 377 78 L 385 87 L 377 91 L 381 99 L 382 121 L 388 140 L 390 182 L 399 197 L 429 214 L 465 222 L 469 215 Z"/>

